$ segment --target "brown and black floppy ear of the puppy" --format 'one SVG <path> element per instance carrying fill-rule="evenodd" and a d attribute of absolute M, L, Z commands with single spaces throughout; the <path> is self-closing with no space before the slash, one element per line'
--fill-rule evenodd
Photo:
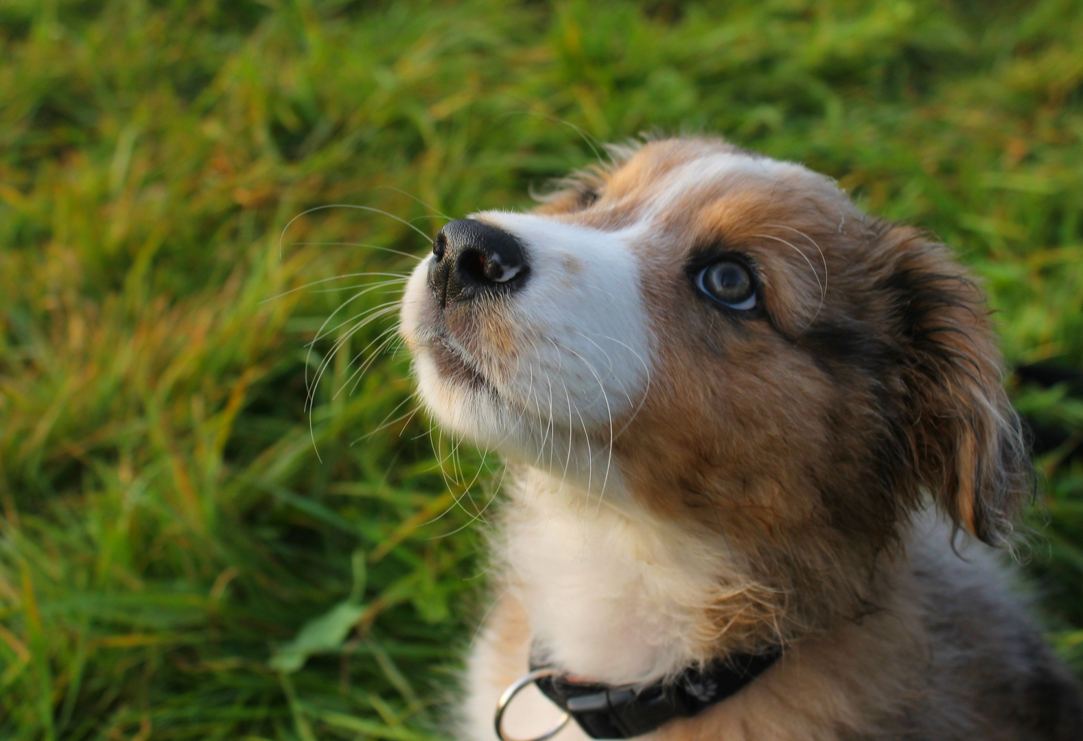
<path fill-rule="evenodd" d="M 956 528 L 1007 544 L 1033 479 L 984 296 L 943 245 L 912 229 L 890 229 L 878 247 L 901 360 L 897 434 L 909 453 L 908 489 L 928 491 Z"/>

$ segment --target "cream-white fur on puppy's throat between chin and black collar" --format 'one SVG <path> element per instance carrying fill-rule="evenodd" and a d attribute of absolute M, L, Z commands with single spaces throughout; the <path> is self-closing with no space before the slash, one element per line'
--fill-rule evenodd
<path fill-rule="evenodd" d="M 575 676 L 649 681 L 708 659 L 706 613 L 735 573 L 727 556 L 630 503 L 527 470 L 504 557 L 534 638 Z"/>

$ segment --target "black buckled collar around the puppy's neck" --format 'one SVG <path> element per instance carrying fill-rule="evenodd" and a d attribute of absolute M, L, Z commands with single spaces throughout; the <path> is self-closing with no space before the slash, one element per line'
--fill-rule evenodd
<path fill-rule="evenodd" d="M 599 685 L 564 674 L 544 677 L 536 684 L 547 698 L 575 718 L 587 736 L 631 739 L 736 694 L 781 655 L 782 649 L 730 655 L 703 668 L 691 666 L 676 677 L 650 685 Z M 548 666 L 531 656 L 531 670 Z"/>

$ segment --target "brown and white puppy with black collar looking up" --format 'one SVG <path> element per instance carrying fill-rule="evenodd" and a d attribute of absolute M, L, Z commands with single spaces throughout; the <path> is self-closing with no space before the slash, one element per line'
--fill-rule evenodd
<path fill-rule="evenodd" d="M 425 406 L 514 479 L 460 736 L 1083 739 L 989 547 L 1032 482 L 951 252 L 720 140 L 614 159 L 445 224 L 403 298 Z"/>

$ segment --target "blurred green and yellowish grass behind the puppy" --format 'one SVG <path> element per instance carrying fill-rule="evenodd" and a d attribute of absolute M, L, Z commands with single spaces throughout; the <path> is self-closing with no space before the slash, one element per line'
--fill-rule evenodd
<path fill-rule="evenodd" d="M 591 139 L 834 176 L 960 250 L 1014 363 L 1083 367 L 1080 39 L 1079 0 L 0 0 L 0 738 L 441 734 L 496 467 L 395 420 L 355 317 L 413 261 L 360 245 L 529 206 Z M 397 219 L 291 221 L 331 204 Z M 1027 572 L 1083 668 L 1067 452 Z"/>

